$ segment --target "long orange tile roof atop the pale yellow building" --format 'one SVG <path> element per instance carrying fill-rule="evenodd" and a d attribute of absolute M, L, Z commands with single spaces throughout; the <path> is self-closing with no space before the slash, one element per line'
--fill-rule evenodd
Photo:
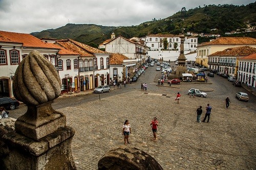
<path fill-rule="evenodd" d="M 203 43 L 205 45 L 256 45 L 256 38 L 251 37 L 220 37 L 210 42 Z"/>

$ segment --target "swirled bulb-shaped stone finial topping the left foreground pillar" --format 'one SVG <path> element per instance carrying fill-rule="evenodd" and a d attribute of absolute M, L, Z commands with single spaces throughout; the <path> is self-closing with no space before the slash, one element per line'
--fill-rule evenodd
<path fill-rule="evenodd" d="M 13 80 L 15 98 L 27 105 L 39 105 L 60 95 L 59 75 L 43 55 L 32 51 L 16 69 Z"/>

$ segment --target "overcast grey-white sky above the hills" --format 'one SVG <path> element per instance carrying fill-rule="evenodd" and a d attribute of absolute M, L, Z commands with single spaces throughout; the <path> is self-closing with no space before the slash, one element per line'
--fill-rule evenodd
<path fill-rule="evenodd" d="M 67 23 L 137 26 L 210 4 L 248 5 L 255 0 L 0 0 L 0 30 L 32 33 Z"/>

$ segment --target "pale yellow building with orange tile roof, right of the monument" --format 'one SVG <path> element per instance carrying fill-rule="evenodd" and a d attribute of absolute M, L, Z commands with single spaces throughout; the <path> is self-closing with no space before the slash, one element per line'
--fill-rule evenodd
<path fill-rule="evenodd" d="M 256 47 L 256 39 L 251 37 L 220 37 L 197 46 L 196 63 L 208 68 L 208 56 L 230 47 Z"/>

